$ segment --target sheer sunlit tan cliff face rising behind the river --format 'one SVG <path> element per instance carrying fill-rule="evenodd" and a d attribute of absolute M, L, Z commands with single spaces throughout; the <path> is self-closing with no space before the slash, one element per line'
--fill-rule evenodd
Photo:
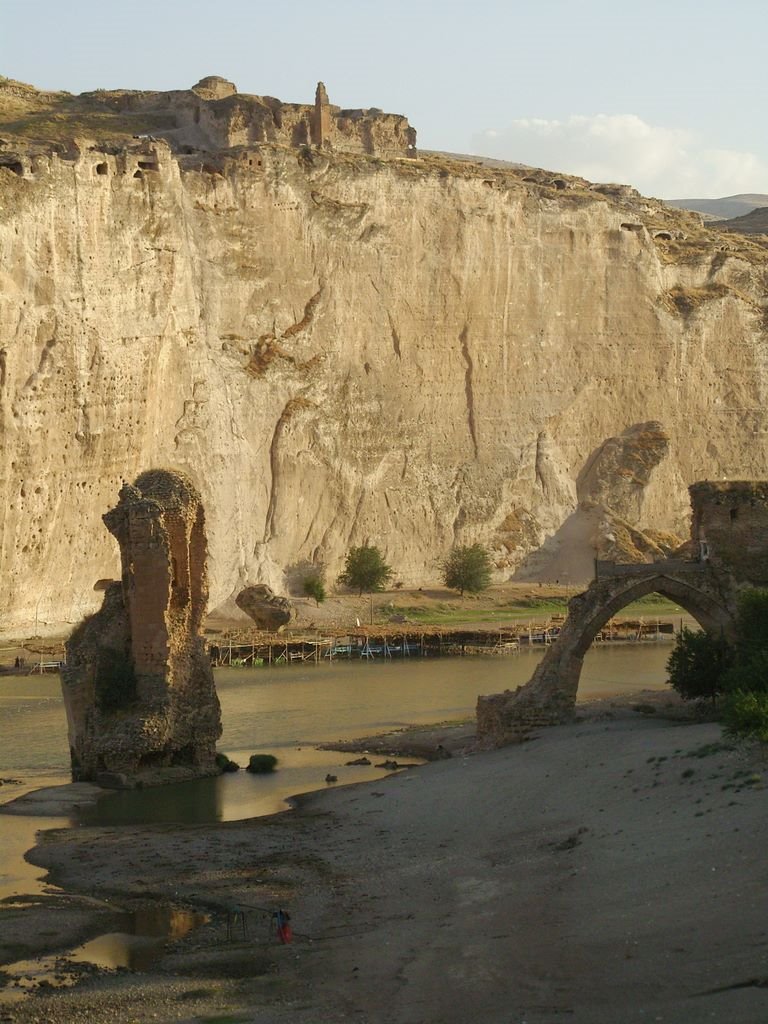
<path fill-rule="evenodd" d="M 202 493 L 212 606 L 368 539 L 406 584 L 456 542 L 508 577 L 649 421 L 634 528 L 682 532 L 692 480 L 768 475 L 766 252 L 695 215 L 273 145 L 0 163 L 6 630 L 99 603 L 100 516 L 151 465 Z"/>

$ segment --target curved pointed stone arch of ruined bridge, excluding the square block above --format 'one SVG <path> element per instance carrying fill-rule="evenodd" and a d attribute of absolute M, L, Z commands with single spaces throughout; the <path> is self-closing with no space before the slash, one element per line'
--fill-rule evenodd
<path fill-rule="evenodd" d="M 709 562 L 641 565 L 598 563 L 599 575 L 568 603 L 558 639 L 524 686 L 477 700 L 477 738 L 483 746 L 514 742 L 531 726 L 557 725 L 573 716 L 584 655 L 595 635 L 623 607 L 646 594 L 663 594 L 699 625 L 731 637 L 736 584 Z"/>

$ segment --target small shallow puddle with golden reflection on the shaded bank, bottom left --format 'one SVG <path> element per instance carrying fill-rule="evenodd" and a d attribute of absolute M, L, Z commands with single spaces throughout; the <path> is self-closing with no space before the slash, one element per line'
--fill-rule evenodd
<path fill-rule="evenodd" d="M 122 918 L 120 931 L 62 953 L 0 968 L 0 1006 L 17 1002 L 32 991 L 71 987 L 92 968 L 148 971 L 162 957 L 166 942 L 182 939 L 208 921 L 207 914 L 171 906 L 142 907 Z"/>

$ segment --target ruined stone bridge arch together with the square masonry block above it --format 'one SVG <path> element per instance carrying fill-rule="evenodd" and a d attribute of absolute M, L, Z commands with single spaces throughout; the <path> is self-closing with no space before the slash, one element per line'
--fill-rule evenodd
<path fill-rule="evenodd" d="M 632 601 L 658 593 L 699 625 L 734 631 L 739 590 L 768 584 L 768 482 L 702 481 L 689 488 L 693 510 L 689 559 L 596 563 L 597 578 L 568 603 L 568 617 L 529 682 L 477 700 L 477 736 L 500 746 L 532 726 L 568 721 L 584 655 L 598 631 Z"/>

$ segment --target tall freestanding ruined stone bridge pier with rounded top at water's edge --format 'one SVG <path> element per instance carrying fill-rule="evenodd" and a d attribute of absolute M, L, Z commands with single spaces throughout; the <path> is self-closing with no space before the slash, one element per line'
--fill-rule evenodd
<path fill-rule="evenodd" d="M 123 572 L 67 644 L 73 778 L 119 785 L 213 774 L 221 722 L 200 632 L 208 581 L 197 489 L 180 473 L 142 473 L 103 519 Z"/>

